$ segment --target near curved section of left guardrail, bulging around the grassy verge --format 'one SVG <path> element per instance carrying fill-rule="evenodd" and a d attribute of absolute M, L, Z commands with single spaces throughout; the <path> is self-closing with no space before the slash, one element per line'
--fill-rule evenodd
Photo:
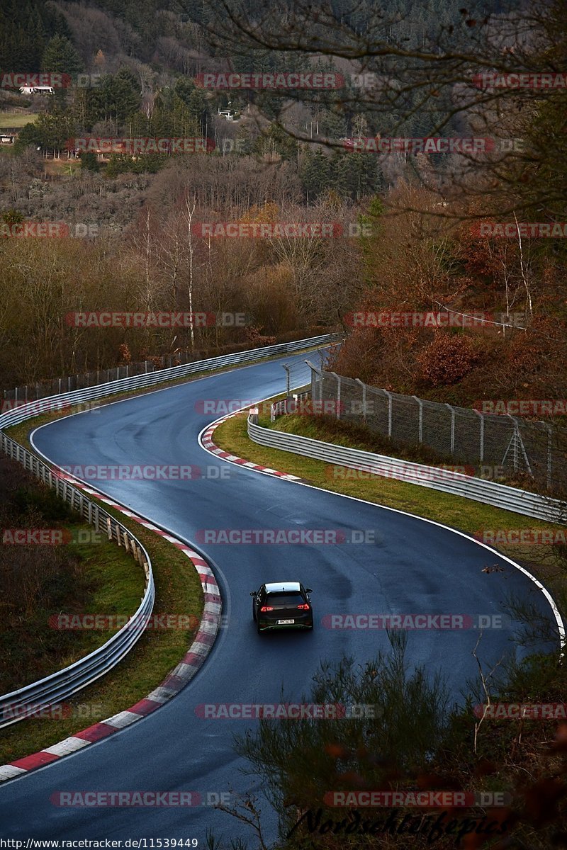
<path fill-rule="evenodd" d="M 6 455 L 21 463 L 32 475 L 43 481 L 43 484 L 55 490 L 60 498 L 80 513 L 88 523 L 94 525 L 97 531 L 104 531 L 109 540 L 114 540 L 118 546 L 125 547 L 145 572 L 144 596 L 130 623 L 123 626 L 99 649 L 95 649 L 74 664 L 24 688 L 0 696 L 0 728 L 3 728 L 24 720 L 47 706 L 53 706 L 58 700 L 67 699 L 71 694 L 77 693 L 78 690 L 93 683 L 116 666 L 144 632 L 145 624 L 154 607 L 156 594 L 150 556 L 139 540 L 122 523 L 117 522 L 110 513 L 88 499 L 81 490 L 4 433 L 0 433 L 0 445 Z"/>

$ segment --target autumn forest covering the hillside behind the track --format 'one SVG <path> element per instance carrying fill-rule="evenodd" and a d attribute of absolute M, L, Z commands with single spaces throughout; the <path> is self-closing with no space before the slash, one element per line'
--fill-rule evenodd
<path fill-rule="evenodd" d="M 553 398 L 564 377 L 562 241 L 485 238 L 478 225 L 562 220 L 564 91 L 487 96 L 470 81 L 479 69 L 560 65 L 563 3 L 333 3 L 316 15 L 295 3 L 281 10 L 283 31 L 261 4 L 232 7 L 230 16 L 228 0 L 3 4 L 0 67 L 60 72 L 71 84 L 47 97 L 0 90 L 5 125 L 23 116 L 15 144 L 0 150 L 0 218 L 88 234 L 0 243 L 3 388 L 339 329 L 347 339 L 337 368 L 376 386 L 462 405 L 481 390 Z M 551 42 L 540 48 L 536 35 L 519 35 L 530 28 L 553 31 Z M 305 70 L 343 83 L 202 84 L 204 71 Z M 227 108 L 231 120 L 220 114 Z M 487 144 L 479 156 L 355 144 L 428 136 Z M 205 144 L 190 154 L 101 155 L 104 139 Z M 341 236 L 204 239 L 202 222 L 323 222 Z M 247 314 L 247 326 L 177 333 L 65 323 L 79 309 L 190 304 Z M 521 321 L 480 331 L 349 325 L 353 310 L 373 309 Z"/>

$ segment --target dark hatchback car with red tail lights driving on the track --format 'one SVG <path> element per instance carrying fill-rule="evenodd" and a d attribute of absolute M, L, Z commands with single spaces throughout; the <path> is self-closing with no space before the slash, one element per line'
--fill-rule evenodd
<path fill-rule="evenodd" d="M 310 587 L 299 581 L 269 581 L 251 592 L 258 634 L 276 629 L 312 629 Z"/>

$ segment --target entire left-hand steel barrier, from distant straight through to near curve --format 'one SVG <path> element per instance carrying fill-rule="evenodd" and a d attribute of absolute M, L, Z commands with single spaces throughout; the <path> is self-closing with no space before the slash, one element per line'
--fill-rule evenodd
<path fill-rule="evenodd" d="M 116 666 L 129 650 L 139 640 L 145 630 L 145 624 L 150 617 L 154 607 L 155 589 L 154 578 L 151 571 L 150 556 L 139 540 L 133 536 L 125 526 L 117 522 L 103 508 L 94 501 L 88 499 L 81 490 L 73 486 L 68 480 L 56 474 L 47 464 L 40 461 L 24 446 L 10 439 L 3 428 L 10 428 L 20 422 L 25 422 L 33 416 L 50 411 L 61 411 L 70 409 L 73 405 L 93 399 L 104 398 L 107 395 L 128 391 L 136 388 L 150 387 L 153 384 L 171 381 L 178 377 L 190 375 L 196 371 L 211 371 L 224 366 L 250 363 L 277 354 L 287 354 L 292 351 L 310 348 L 311 346 L 325 345 L 342 339 L 342 334 L 326 334 L 322 337 L 311 337 L 292 343 L 281 343 L 264 348 L 254 348 L 249 351 L 241 351 L 237 354 L 226 354 L 221 357 L 213 357 L 208 360 L 196 360 L 173 366 L 170 369 L 161 369 L 145 375 L 122 378 L 99 384 L 95 387 L 74 390 L 71 393 L 52 395 L 47 398 L 37 399 L 23 405 L 15 406 L 13 410 L 0 416 L 0 448 L 4 454 L 14 461 L 22 464 L 37 479 L 43 481 L 48 487 L 56 491 L 60 498 L 64 499 L 72 508 L 81 513 L 88 523 L 94 525 L 96 530 L 104 531 L 109 539 L 116 541 L 118 546 L 126 547 L 132 553 L 133 558 L 143 567 L 145 571 L 145 593 L 139 608 L 132 615 L 130 624 L 123 626 L 119 632 L 108 640 L 99 649 L 95 649 L 90 655 L 75 661 L 74 664 L 65 669 L 52 673 L 37 682 L 26 685 L 24 688 L 12 691 L 10 694 L 0 696 L 0 728 L 17 723 L 34 712 L 41 712 L 43 708 L 54 706 L 59 700 L 68 699 L 72 694 L 93 683 L 96 679 L 104 676 L 112 667 Z M 56 467 L 55 467 L 56 468 Z"/>

